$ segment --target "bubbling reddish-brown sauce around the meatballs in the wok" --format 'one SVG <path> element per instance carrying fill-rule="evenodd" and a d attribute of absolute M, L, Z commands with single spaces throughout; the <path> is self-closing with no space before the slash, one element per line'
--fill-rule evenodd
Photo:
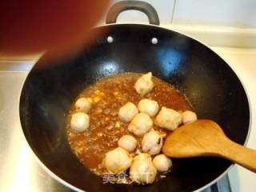
<path fill-rule="evenodd" d="M 178 111 L 192 110 L 190 103 L 178 90 L 158 78 L 153 78 L 154 89 L 149 94 L 143 97 L 138 95 L 134 90 L 134 83 L 141 75 L 125 73 L 102 78 L 86 87 L 78 95 L 78 98 L 92 98 L 93 101 L 89 112 L 90 128 L 85 132 L 74 133 L 70 130 L 70 116 L 75 112 L 74 103 L 70 107 L 67 119 L 67 137 L 71 149 L 82 164 L 94 171 L 95 174 L 106 173 L 102 166 L 105 154 L 118 146 L 118 139 L 122 135 L 131 134 L 127 129 L 128 124 L 122 123 L 118 119 L 118 110 L 126 102 L 133 102 L 137 105 L 142 98 L 150 98 L 157 101 L 160 107 L 166 106 Z M 154 129 L 159 130 L 157 126 L 154 126 Z M 168 134 L 166 130 L 161 131 Z M 135 138 L 138 139 L 138 143 L 142 140 L 136 136 Z M 138 145 L 138 150 L 140 147 Z"/>

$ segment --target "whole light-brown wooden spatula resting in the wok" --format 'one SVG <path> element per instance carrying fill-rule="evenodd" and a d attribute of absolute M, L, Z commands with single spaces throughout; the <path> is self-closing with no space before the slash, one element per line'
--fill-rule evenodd
<path fill-rule="evenodd" d="M 256 173 L 256 150 L 232 142 L 222 128 L 210 120 L 198 120 L 174 130 L 166 138 L 162 152 L 170 158 L 226 158 Z"/>

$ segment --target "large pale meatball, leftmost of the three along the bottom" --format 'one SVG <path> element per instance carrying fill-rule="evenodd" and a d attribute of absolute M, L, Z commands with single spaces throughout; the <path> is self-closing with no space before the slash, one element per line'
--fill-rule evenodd
<path fill-rule="evenodd" d="M 128 151 L 121 147 L 117 147 L 106 153 L 106 157 L 103 160 L 103 166 L 106 167 L 108 172 L 119 174 L 130 167 L 132 160 L 133 158 Z"/>

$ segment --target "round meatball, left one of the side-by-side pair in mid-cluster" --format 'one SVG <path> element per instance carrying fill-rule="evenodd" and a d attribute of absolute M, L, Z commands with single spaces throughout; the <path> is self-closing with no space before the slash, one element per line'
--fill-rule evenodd
<path fill-rule="evenodd" d="M 118 117 L 122 122 L 130 122 L 138 114 L 138 109 L 132 102 L 127 102 L 118 111 Z"/>

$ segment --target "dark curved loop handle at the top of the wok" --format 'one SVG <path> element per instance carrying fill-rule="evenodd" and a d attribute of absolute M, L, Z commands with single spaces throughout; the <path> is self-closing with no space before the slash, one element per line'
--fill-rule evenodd
<path fill-rule="evenodd" d="M 139 10 L 142 11 L 149 18 L 150 24 L 158 25 L 160 24 L 158 13 L 148 2 L 142 1 L 122 1 L 116 2 L 111 6 L 107 16 L 106 24 L 117 22 L 118 15 L 124 10 Z"/>

